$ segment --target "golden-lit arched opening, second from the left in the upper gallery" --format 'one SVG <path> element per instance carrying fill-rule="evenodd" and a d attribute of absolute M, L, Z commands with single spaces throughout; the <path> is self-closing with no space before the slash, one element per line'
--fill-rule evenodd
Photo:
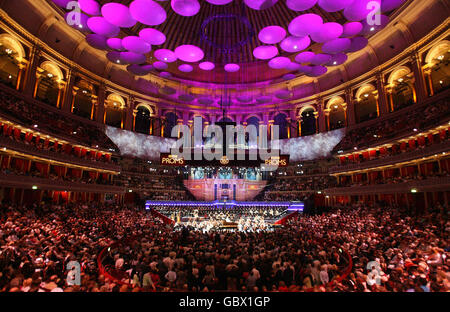
<path fill-rule="evenodd" d="M 38 68 L 39 77 L 36 82 L 35 98 L 49 105 L 59 107 L 62 96 L 64 75 L 58 65 L 44 62 Z"/>

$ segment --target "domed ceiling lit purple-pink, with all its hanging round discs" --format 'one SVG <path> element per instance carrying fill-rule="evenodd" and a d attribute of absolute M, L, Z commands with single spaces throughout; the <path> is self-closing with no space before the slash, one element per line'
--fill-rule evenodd
<path fill-rule="evenodd" d="M 325 74 L 405 0 L 79 0 L 81 18 L 50 2 L 134 75 L 238 84 Z"/>

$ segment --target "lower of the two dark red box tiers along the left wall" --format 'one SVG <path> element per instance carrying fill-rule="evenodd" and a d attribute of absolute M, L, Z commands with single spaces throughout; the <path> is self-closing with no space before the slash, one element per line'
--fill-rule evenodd
<path fill-rule="evenodd" d="M 51 180 L 26 175 L 5 174 L 0 173 L 0 185 L 3 187 L 16 187 L 31 189 L 37 186 L 39 189 L 52 191 L 73 191 L 73 192 L 89 192 L 89 193 L 125 193 L 123 187 L 95 184 L 80 183 L 63 180 Z"/>

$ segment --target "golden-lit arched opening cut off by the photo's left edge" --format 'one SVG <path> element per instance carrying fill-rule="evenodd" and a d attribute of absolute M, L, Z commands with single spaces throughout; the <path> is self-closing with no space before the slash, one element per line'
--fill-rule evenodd
<path fill-rule="evenodd" d="M 13 88 L 20 83 L 21 62 L 25 57 L 23 46 L 8 34 L 0 35 L 0 81 Z"/>

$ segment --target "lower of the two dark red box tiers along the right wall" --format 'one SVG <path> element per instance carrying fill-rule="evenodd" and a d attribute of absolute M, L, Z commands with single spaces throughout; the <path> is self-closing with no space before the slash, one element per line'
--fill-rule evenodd
<path fill-rule="evenodd" d="M 434 177 L 425 180 L 414 180 L 403 183 L 373 184 L 363 186 L 337 187 L 325 190 L 326 195 L 371 195 L 409 193 L 412 189 L 418 192 L 448 191 L 450 177 Z"/>

